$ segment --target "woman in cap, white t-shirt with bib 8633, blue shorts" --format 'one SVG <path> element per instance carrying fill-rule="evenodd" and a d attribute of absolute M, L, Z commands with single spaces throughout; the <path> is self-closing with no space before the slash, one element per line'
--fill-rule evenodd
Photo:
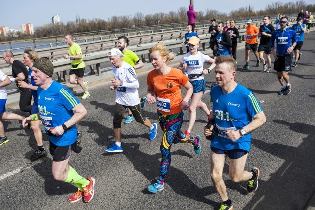
<path fill-rule="evenodd" d="M 219 29 L 219 27 L 218 27 Z M 191 103 L 189 106 L 189 122 L 188 128 L 184 131 L 184 134 L 190 136 L 191 129 L 196 121 L 196 108 L 199 107 L 203 112 L 210 115 L 210 111 L 207 105 L 201 101 L 201 98 L 206 91 L 206 80 L 203 76 L 203 64 L 205 62 L 212 63 L 209 69 L 207 70 L 210 72 L 216 65 L 214 64 L 215 60 L 210 58 L 210 56 L 205 55 L 198 51 L 200 45 L 200 39 L 193 36 L 188 41 L 189 45 L 189 53 L 186 53 L 182 59 L 181 63 L 179 64 L 179 69 L 187 70 L 185 72 L 186 76 L 188 77 L 189 82 L 192 84 L 193 87 L 193 94 L 191 96 Z M 218 51 L 219 52 L 219 51 Z"/>

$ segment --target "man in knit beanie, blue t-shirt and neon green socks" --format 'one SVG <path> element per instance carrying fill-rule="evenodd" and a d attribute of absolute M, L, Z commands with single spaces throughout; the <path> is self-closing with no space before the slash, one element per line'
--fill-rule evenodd
<path fill-rule="evenodd" d="M 90 202 L 94 196 L 95 179 L 80 176 L 70 165 L 71 150 L 79 153 L 82 148 L 77 145 L 77 128 L 87 110 L 71 91 L 51 78 L 54 72 L 52 62 L 43 57 L 35 61 L 32 77 L 38 85 L 39 113 L 32 114 L 22 121 L 26 126 L 31 121 L 41 120 L 49 137 L 49 151 L 53 157 L 52 174 L 55 180 L 73 183 L 78 187 L 68 202 L 73 203 L 84 197 Z"/>

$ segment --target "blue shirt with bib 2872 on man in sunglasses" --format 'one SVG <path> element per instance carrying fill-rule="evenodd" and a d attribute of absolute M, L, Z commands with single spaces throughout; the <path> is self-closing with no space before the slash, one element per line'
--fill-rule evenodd
<path fill-rule="evenodd" d="M 275 47 L 275 40 L 277 42 L 277 54 L 279 56 L 284 56 L 288 54 L 286 51 L 291 47 L 291 43 L 297 42 L 296 33 L 294 30 L 287 27 L 285 30 L 278 29 L 271 33 L 271 47 Z"/>

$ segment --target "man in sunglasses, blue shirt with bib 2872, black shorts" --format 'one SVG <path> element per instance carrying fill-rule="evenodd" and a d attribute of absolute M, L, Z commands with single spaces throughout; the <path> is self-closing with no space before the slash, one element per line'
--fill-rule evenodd
<path fill-rule="evenodd" d="M 275 58 L 274 70 L 277 71 L 278 81 L 281 85 L 281 90 L 278 95 L 288 95 L 291 93 L 290 77 L 288 75 L 291 70 L 292 52 L 297 45 L 296 33 L 287 27 L 287 17 L 282 17 L 279 20 L 280 29 L 275 30 L 271 34 L 271 52 Z M 275 40 L 277 42 L 277 52 L 275 52 Z M 291 43 L 293 43 L 291 45 Z M 286 85 L 284 85 L 284 81 Z"/>

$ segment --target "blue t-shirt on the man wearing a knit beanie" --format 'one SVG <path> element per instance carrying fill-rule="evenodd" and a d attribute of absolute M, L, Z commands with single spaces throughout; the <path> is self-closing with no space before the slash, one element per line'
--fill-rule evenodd
<path fill-rule="evenodd" d="M 38 110 L 47 131 L 62 125 L 73 116 L 72 108 L 80 103 L 71 91 L 60 83 L 53 81 L 48 89 L 38 87 Z M 77 128 L 72 126 L 62 136 L 48 136 L 49 141 L 58 146 L 73 144 L 77 139 Z"/>

